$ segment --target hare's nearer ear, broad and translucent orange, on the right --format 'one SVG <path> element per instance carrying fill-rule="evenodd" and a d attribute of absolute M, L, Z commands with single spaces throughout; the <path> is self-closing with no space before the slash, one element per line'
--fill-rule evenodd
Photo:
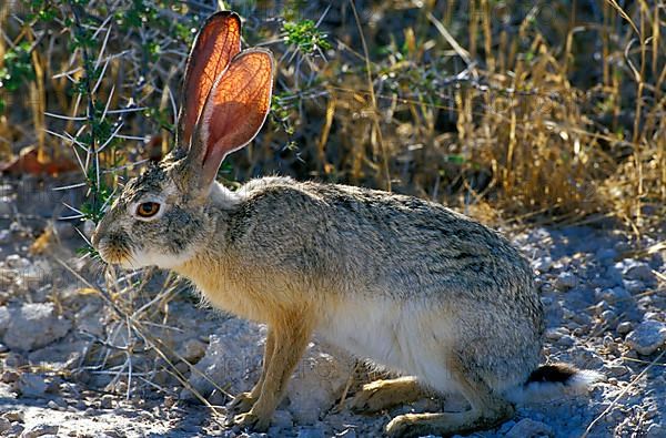
<path fill-rule="evenodd" d="M 199 119 L 190 159 L 208 187 L 226 154 L 259 133 L 271 106 L 273 57 L 263 49 L 238 54 L 214 83 Z"/>

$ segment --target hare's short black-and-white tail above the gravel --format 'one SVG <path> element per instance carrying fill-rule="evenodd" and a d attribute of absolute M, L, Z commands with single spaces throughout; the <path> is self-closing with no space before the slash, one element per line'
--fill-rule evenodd
<path fill-rule="evenodd" d="M 506 398 L 516 404 L 546 401 L 562 396 L 585 394 L 589 387 L 605 376 L 597 371 L 578 369 L 568 364 L 542 365 L 527 380 L 506 393 Z"/>

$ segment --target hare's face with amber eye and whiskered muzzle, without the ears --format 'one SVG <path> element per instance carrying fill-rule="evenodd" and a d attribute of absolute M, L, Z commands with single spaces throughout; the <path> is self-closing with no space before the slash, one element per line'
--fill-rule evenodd
<path fill-rule="evenodd" d="M 183 191 L 178 164 L 153 165 L 128 182 L 92 236 L 104 262 L 173 268 L 203 245 L 205 200 Z"/>

